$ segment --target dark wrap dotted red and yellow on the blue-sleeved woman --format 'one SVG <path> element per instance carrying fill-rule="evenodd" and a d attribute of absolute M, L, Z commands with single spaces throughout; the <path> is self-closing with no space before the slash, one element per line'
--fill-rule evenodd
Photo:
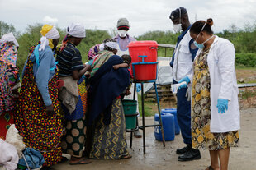
<path fill-rule="evenodd" d="M 35 46 L 31 48 L 33 52 Z M 40 150 L 44 156 L 43 166 L 49 167 L 61 160 L 60 138 L 63 127 L 59 113 L 57 80 L 58 71 L 48 83 L 50 99 L 54 106 L 53 116 L 49 116 L 45 109 L 45 103 L 37 88 L 33 75 L 33 63 L 30 59 L 26 63 L 20 91 L 17 101 L 15 124 L 27 147 Z"/>

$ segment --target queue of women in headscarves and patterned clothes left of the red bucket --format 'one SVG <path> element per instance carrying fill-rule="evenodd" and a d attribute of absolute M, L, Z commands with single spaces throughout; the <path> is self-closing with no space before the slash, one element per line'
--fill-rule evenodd
<path fill-rule="evenodd" d="M 62 154 L 71 155 L 71 165 L 91 163 L 88 158 L 131 158 L 121 103 L 121 96 L 130 94 L 130 56 L 116 55 L 116 40 L 106 39 L 83 64 L 76 48 L 85 38 L 83 25 L 69 25 L 60 45 L 55 26 L 43 25 L 40 33 L 24 65 L 19 93 L 18 44 L 13 34 L 2 37 L 1 126 L 15 123 L 26 147 L 43 155 L 43 169 L 63 161 Z M 1 127 L 2 139 L 6 132 L 7 126 Z"/>

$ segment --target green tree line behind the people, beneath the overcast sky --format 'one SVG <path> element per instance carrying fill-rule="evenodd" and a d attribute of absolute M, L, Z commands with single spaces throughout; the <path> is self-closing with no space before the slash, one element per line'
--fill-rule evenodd
<path fill-rule="evenodd" d="M 26 32 L 22 33 L 17 37 L 17 41 L 20 44 L 20 48 L 18 50 L 18 57 L 17 57 L 17 67 L 19 67 L 20 71 L 26 62 L 26 58 L 29 53 L 29 49 L 31 46 L 36 45 L 40 40 L 42 24 L 34 24 L 28 25 Z M 59 30 L 60 39 L 59 44 L 64 39 L 66 34 L 65 30 Z M 107 30 L 86 30 L 87 36 L 78 45 L 78 49 L 83 58 L 83 62 L 88 61 L 88 51 L 92 48 L 95 44 L 101 44 L 104 39 L 111 38 L 111 34 L 114 33 L 114 29 L 112 30 L 111 34 Z M 8 32 L 13 32 L 17 36 L 17 32 L 12 25 L 8 25 L 5 22 L 0 21 L 0 35 L 7 34 Z M 256 22 L 251 25 L 244 25 L 243 30 L 239 30 L 235 25 L 230 25 L 228 30 L 223 30 L 221 33 L 217 33 L 220 37 L 225 39 L 229 39 L 235 45 L 235 52 L 239 54 L 239 58 L 244 56 L 244 60 L 248 59 L 251 61 L 250 58 L 256 57 Z M 142 34 L 138 37 L 135 37 L 137 40 L 155 40 L 159 44 L 176 44 L 177 37 L 179 34 L 174 34 L 172 31 L 149 31 L 145 34 Z M 249 53 L 248 55 L 245 55 Z M 165 49 L 159 48 L 158 50 L 159 56 L 164 56 Z M 173 49 L 167 49 L 167 56 L 170 57 L 173 55 Z M 246 57 L 245 57 L 246 56 Z M 242 61 L 241 59 L 237 60 L 237 62 Z M 248 61 L 248 63 L 250 62 Z M 242 62 L 241 62 L 242 63 Z M 242 64 L 244 64 L 243 62 Z"/>

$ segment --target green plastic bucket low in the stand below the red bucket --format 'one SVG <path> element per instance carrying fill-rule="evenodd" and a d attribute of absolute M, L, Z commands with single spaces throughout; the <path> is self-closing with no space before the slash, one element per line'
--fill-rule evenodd
<path fill-rule="evenodd" d="M 123 99 L 122 103 L 126 117 L 126 129 L 135 129 L 138 115 L 138 113 L 136 113 L 137 101 L 131 99 Z"/>

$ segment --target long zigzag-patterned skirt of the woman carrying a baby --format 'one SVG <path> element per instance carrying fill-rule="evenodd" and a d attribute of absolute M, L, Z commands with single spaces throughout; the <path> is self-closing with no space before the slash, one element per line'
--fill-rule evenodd
<path fill-rule="evenodd" d="M 103 116 L 96 123 L 90 158 L 121 159 L 128 154 L 124 109 L 121 99 L 114 99 L 110 124 L 105 125 Z"/>

